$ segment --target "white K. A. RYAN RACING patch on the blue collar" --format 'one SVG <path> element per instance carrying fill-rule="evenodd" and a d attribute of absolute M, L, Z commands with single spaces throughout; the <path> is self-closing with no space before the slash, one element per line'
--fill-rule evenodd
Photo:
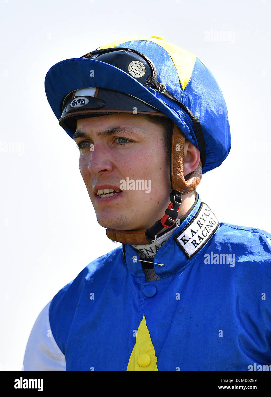
<path fill-rule="evenodd" d="M 215 214 L 202 202 L 194 218 L 173 238 L 190 259 L 207 243 L 218 226 Z"/>

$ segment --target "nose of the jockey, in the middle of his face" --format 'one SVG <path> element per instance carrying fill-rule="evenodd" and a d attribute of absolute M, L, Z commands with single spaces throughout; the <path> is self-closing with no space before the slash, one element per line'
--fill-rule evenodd
<path fill-rule="evenodd" d="M 109 149 L 102 143 L 96 143 L 88 156 L 88 171 L 94 175 L 101 175 L 110 173 L 112 169 Z"/>

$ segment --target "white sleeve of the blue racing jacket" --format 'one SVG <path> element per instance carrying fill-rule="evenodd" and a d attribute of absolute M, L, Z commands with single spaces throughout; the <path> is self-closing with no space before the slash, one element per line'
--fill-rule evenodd
<path fill-rule="evenodd" d="M 40 312 L 29 336 L 23 359 L 23 371 L 65 371 L 65 355 L 50 328 L 51 301 Z"/>

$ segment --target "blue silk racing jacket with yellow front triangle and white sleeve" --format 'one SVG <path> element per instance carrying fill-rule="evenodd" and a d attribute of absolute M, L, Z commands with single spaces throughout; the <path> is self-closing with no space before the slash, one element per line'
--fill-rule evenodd
<path fill-rule="evenodd" d="M 154 269 L 130 245 L 88 264 L 38 316 L 23 370 L 271 370 L 269 233 L 219 224 L 198 197 Z"/>

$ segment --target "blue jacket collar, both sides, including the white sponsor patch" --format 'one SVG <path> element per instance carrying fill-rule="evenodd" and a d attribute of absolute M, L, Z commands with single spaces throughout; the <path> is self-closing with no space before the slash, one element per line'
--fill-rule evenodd
<path fill-rule="evenodd" d="M 180 221 L 180 226 L 154 256 L 154 270 L 160 279 L 180 272 L 192 263 L 192 259 L 198 256 L 202 247 L 219 227 L 215 215 L 205 203 L 202 203 L 199 195 L 194 205 Z M 136 251 L 131 245 L 123 244 L 122 247 L 124 262 L 129 271 L 134 276 L 145 280 L 142 264 Z"/>

